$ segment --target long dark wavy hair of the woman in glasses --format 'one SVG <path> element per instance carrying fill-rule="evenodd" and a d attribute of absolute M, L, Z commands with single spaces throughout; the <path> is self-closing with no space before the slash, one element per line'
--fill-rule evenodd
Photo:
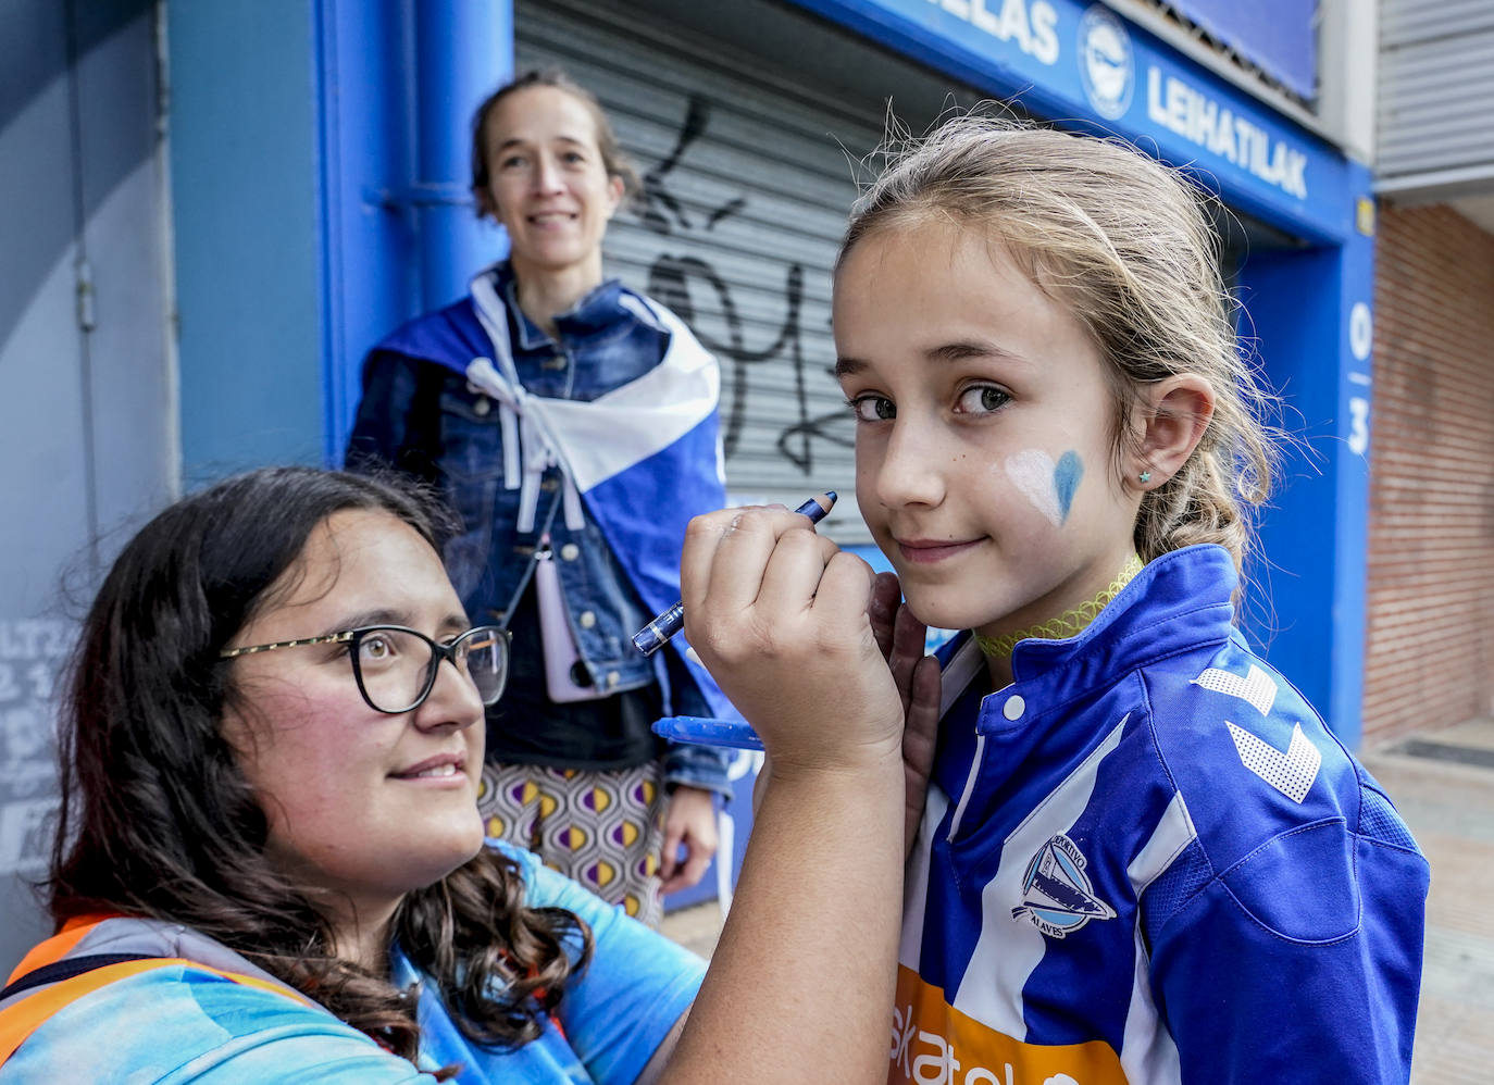
<path fill-rule="evenodd" d="M 438 551 L 447 529 L 394 477 L 267 468 L 184 498 L 124 547 L 67 676 L 45 888 L 58 925 L 99 912 L 185 924 L 414 1060 L 415 998 L 335 956 L 317 891 L 266 858 L 267 819 L 221 729 L 242 695 L 218 652 L 342 510 L 390 513 Z M 586 925 L 526 907 L 517 864 L 489 849 L 409 894 L 393 934 L 462 1031 L 498 1048 L 538 1036 L 592 953 Z"/>

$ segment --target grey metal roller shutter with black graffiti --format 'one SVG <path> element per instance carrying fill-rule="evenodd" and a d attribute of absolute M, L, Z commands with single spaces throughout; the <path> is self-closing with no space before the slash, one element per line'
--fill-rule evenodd
<path fill-rule="evenodd" d="M 870 541 L 829 375 L 829 303 L 853 163 L 880 142 L 880 121 L 636 15 L 521 1 L 515 16 L 518 70 L 559 64 L 592 90 L 644 176 L 608 230 L 607 272 L 678 312 L 720 359 L 734 498 L 793 507 L 834 489 L 846 510 L 822 531 Z"/>

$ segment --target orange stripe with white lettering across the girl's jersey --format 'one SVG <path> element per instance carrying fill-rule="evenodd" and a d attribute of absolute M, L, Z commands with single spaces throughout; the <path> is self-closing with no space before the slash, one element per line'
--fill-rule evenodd
<path fill-rule="evenodd" d="M 944 992 L 902 965 L 892 1018 L 889 1085 L 1126 1085 L 1104 1040 L 1022 1043 L 944 1001 Z"/>

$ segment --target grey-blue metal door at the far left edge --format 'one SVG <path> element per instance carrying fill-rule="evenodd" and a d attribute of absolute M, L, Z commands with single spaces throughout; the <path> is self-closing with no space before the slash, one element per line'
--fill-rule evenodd
<path fill-rule="evenodd" d="M 76 620 L 172 496 L 149 0 L 0 4 L 0 974 L 51 933 L 57 695 Z M 79 321 L 79 262 L 88 282 Z"/>

